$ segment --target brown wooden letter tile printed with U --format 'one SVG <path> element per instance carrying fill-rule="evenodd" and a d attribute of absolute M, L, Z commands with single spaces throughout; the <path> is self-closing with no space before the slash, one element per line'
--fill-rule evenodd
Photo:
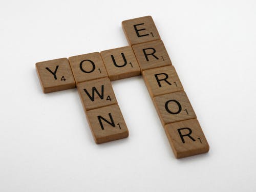
<path fill-rule="evenodd" d="M 111 81 L 140 75 L 140 67 L 130 46 L 100 52 Z"/>

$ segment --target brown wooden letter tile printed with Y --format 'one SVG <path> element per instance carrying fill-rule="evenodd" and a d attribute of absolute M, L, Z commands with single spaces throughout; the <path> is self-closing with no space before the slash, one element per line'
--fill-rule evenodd
<path fill-rule="evenodd" d="M 44 93 L 76 87 L 67 58 L 37 62 L 35 66 Z"/>

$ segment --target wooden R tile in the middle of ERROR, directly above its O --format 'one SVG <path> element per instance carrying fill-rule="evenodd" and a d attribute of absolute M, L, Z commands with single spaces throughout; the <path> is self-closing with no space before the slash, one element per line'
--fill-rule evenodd
<path fill-rule="evenodd" d="M 157 95 L 183 91 L 174 66 L 145 70 L 142 76 L 152 99 Z"/>

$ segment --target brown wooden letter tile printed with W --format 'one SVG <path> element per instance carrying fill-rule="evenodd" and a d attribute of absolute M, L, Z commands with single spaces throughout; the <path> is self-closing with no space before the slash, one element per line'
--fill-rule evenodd
<path fill-rule="evenodd" d="M 110 79 L 105 77 L 77 84 L 84 111 L 117 104 Z"/>

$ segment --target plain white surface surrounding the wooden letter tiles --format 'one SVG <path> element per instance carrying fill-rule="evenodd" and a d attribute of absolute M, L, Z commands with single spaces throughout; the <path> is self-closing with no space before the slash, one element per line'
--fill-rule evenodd
<path fill-rule="evenodd" d="M 177 160 L 142 77 L 113 82 L 129 138 L 95 144 L 76 89 L 35 63 L 126 46 L 152 15 L 210 145 Z M 0 3 L 0 191 L 255 191 L 255 1 Z"/>

